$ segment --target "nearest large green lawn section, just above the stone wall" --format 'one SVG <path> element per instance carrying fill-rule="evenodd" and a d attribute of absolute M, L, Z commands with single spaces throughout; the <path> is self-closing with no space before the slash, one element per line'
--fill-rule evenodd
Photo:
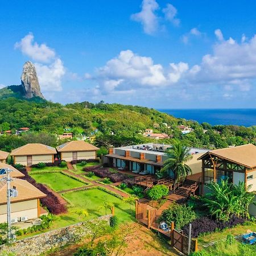
<path fill-rule="evenodd" d="M 67 214 L 59 215 L 53 228 L 60 228 L 79 222 L 79 217 L 74 213 L 76 209 L 86 209 L 89 213 L 89 216 L 80 218 L 80 221 L 105 215 L 105 209 L 102 207 L 104 201 L 114 205 L 115 215 L 118 217 L 119 222 L 134 220 L 135 207 L 131 207 L 132 210 L 130 210 L 129 204 L 100 189 L 69 192 L 64 193 L 62 196 L 75 206 L 69 207 Z M 110 214 L 110 210 L 107 211 L 107 214 Z"/>

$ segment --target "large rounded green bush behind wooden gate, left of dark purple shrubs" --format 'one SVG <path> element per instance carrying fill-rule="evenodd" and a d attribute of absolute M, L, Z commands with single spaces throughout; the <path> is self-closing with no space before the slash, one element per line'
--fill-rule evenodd
<path fill-rule="evenodd" d="M 185 225 L 196 219 L 196 213 L 187 205 L 172 204 L 168 209 L 163 210 L 158 221 L 165 221 L 169 225 L 172 221 L 176 229 L 182 229 Z"/>

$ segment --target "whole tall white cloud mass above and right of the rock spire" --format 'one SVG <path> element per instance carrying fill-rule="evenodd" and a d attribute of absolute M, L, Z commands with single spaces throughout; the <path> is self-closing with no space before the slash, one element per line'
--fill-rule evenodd
<path fill-rule="evenodd" d="M 36 73 L 43 92 L 56 92 L 62 89 L 61 80 L 65 75 L 65 67 L 56 52 L 46 44 L 34 42 L 34 35 L 29 33 L 15 43 L 15 49 L 19 49 L 24 55 L 36 61 Z"/>

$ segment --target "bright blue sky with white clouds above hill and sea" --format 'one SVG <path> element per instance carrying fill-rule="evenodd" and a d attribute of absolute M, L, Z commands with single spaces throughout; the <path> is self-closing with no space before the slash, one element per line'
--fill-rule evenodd
<path fill-rule="evenodd" d="M 30 60 L 63 104 L 256 108 L 255 11 L 253 0 L 2 1 L 0 86 L 20 84 Z"/>

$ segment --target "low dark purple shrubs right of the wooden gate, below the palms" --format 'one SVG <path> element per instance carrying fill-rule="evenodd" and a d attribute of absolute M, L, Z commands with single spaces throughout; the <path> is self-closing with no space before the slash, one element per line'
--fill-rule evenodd
<path fill-rule="evenodd" d="M 232 217 L 229 221 L 217 221 L 208 217 L 196 218 L 191 222 L 192 237 L 198 237 L 200 234 L 222 230 L 224 228 L 232 228 L 233 226 L 243 224 L 245 220 L 240 217 Z M 184 233 L 188 235 L 189 225 L 184 226 Z"/>

